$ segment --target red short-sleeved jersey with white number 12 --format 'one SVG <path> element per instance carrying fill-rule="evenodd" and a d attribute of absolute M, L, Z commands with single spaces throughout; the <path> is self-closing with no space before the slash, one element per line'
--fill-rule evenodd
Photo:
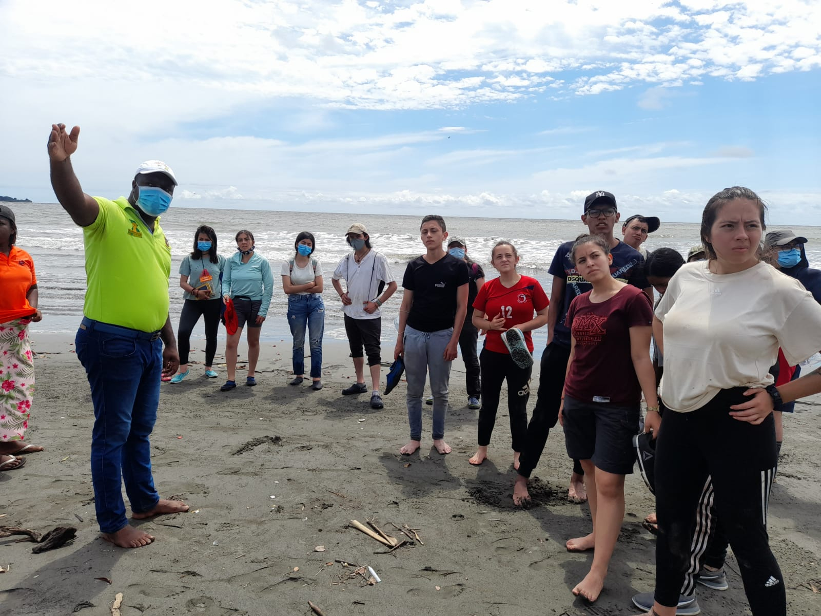
<path fill-rule="evenodd" d="M 549 303 L 539 281 L 530 276 L 522 276 L 519 282 L 510 288 L 505 287 L 498 278 L 484 283 L 473 302 L 473 307 L 480 313 L 484 312 L 491 321 L 502 315 L 505 318 L 505 327 L 511 329 L 533 320 L 534 313 L 544 310 Z M 532 353 L 533 338 L 530 332 L 525 332 L 525 343 Z M 507 353 L 507 347 L 502 342 L 502 332 L 493 329 L 488 331 L 484 347 L 488 351 Z"/>

